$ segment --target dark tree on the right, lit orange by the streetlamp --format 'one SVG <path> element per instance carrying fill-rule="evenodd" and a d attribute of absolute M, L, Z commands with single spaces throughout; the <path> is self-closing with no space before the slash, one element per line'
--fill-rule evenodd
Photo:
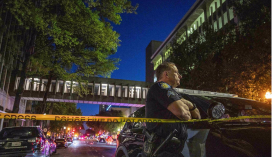
<path fill-rule="evenodd" d="M 271 91 L 271 4 L 231 0 L 230 7 L 239 26 L 218 32 L 206 27 L 203 34 L 174 42 L 170 60 L 182 70 L 182 88 L 266 101 L 265 92 Z"/>

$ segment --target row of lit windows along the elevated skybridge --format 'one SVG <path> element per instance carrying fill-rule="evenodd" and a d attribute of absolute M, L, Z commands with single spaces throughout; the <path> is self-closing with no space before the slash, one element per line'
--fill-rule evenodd
<path fill-rule="evenodd" d="M 15 89 L 18 89 L 18 85 L 20 82 L 20 78 L 17 78 Z M 39 78 L 27 78 L 24 84 L 24 90 L 32 91 L 46 91 L 46 85 L 48 83 L 47 79 L 42 79 L 40 81 Z M 57 83 L 57 84 L 56 84 Z M 60 93 L 77 93 L 79 89 L 79 83 L 73 82 L 71 88 L 71 81 L 57 81 L 52 80 L 51 85 L 49 87 L 49 91 Z M 125 98 L 146 98 L 148 88 L 141 88 L 138 86 L 121 86 L 121 85 L 108 85 L 108 84 L 100 84 L 100 83 L 81 83 L 83 86 L 87 86 L 87 89 L 93 95 L 103 95 L 103 96 L 116 96 L 116 97 L 125 97 Z M 72 91 L 71 91 L 72 90 Z"/>

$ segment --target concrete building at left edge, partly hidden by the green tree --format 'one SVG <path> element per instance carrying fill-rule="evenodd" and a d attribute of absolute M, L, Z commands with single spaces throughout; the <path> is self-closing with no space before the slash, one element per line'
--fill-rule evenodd
<path fill-rule="evenodd" d="M 2 3 L 2 4 L 1 4 Z M 18 34 L 20 27 L 18 22 L 8 11 L 3 10 L 1 2 L 1 29 L 0 29 L 0 113 L 10 113 L 13 109 L 14 98 L 9 95 L 11 82 L 14 82 L 16 77 L 15 69 L 21 69 L 19 59 L 23 59 L 20 49 L 13 45 L 15 42 L 20 43 L 22 34 Z M 17 32 L 11 33 L 11 32 Z M 17 59 L 17 58 L 18 59 Z M 19 104 L 19 112 L 25 113 L 31 111 L 31 102 L 21 100 Z M 8 125 L 8 119 L 0 119 L 0 130 Z M 32 120 L 16 120 L 16 126 L 32 125 Z"/>

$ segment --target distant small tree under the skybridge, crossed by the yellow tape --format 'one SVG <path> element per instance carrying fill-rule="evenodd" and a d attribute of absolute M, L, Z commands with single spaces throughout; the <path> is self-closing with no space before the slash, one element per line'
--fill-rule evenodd
<path fill-rule="evenodd" d="M 110 111 L 101 111 L 95 116 L 104 116 L 104 117 L 124 117 L 122 111 L 110 110 Z M 94 131 L 98 132 L 100 130 L 108 131 L 110 134 L 117 132 L 118 128 L 124 126 L 125 122 L 86 122 L 86 125 L 90 128 L 93 128 Z"/>

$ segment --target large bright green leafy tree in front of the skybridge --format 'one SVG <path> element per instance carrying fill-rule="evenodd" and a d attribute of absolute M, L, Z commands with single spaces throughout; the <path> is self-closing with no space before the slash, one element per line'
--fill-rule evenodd
<path fill-rule="evenodd" d="M 64 80 L 90 75 L 109 77 L 117 69 L 116 63 L 119 61 L 108 58 L 117 51 L 119 45 L 119 35 L 112 30 L 110 22 L 120 24 L 120 14 L 135 13 L 137 7 L 127 0 L 8 1 L 8 11 L 26 32 L 21 80 L 12 112 L 18 113 L 32 58 L 44 60 L 37 63 L 49 69 L 49 78 L 54 75 Z M 69 69 L 72 65 L 76 67 L 73 74 Z M 41 113 L 44 112 L 45 102 L 46 94 Z M 13 124 L 11 121 L 10 126 Z"/>

